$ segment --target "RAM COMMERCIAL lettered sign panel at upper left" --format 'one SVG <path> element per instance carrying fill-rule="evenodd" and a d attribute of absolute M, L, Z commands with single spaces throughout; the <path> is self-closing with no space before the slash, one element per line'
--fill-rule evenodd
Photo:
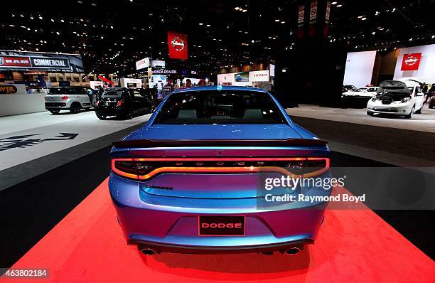
<path fill-rule="evenodd" d="M 70 69 L 68 58 L 0 56 L 0 68 Z"/>

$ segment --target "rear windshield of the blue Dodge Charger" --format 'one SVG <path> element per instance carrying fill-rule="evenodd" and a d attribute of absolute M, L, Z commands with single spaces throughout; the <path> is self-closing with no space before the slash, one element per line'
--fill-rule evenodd
<path fill-rule="evenodd" d="M 284 117 L 265 92 L 200 90 L 173 93 L 156 124 L 283 124 Z"/>

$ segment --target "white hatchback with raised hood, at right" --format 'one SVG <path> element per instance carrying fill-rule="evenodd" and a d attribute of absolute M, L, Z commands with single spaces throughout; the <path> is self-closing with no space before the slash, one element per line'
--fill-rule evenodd
<path fill-rule="evenodd" d="M 396 114 L 411 118 L 423 110 L 424 95 L 415 80 L 387 80 L 367 102 L 367 115 Z"/>

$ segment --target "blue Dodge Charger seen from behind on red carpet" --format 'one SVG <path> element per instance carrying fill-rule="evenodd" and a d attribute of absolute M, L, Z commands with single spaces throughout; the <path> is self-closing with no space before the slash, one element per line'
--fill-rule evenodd
<path fill-rule="evenodd" d="M 279 251 L 316 240 L 327 203 L 267 203 L 268 176 L 327 178 L 325 141 L 291 122 L 265 90 L 208 86 L 177 90 L 149 122 L 114 142 L 109 191 L 129 245 L 159 252 Z M 331 191 L 304 188 L 305 195 Z"/>

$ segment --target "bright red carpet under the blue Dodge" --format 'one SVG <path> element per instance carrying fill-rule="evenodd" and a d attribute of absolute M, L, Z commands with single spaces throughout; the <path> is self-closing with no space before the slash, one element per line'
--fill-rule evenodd
<path fill-rule="evenodd" d="M 328 210 L 296 256 L 141 255 L 127 246 L 104 181 L 14 267 L 49 279 L 1 282 L 435 282 L 435 263 L 371 210 Z"/>

